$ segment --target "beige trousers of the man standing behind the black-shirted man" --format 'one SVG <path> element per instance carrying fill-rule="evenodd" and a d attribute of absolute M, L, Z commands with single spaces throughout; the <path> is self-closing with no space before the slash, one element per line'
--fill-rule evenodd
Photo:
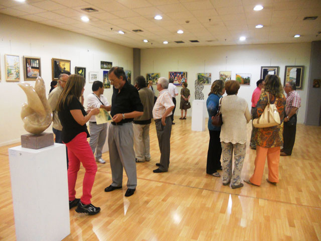
<path fill-rule="evenodd" d="M 150 161 L 149 126 L 150 124 L 132 124 L 132 129 L 134 131 L 135 156 L 140 162 Z"/>

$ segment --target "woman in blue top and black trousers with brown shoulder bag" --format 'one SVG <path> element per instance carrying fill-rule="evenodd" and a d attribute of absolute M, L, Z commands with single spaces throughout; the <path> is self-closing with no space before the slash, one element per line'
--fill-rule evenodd
<path fill-rule="evenodd" d="M 209 113 L 208 129 L 210 132 L 209 150 L 207 152 L 206 173 L 214 177 L 220 177 L 218 170 L 222 170 L 221 154 L 222 146 L 220 141 L 221 127 L 213 126 L 212 117 L 216 115 L 219 108 L 219 101 L 225 93 L 224 81 L 215 80 L 212 83 L 209 97 L 206 100 L 206 107 Z"/>

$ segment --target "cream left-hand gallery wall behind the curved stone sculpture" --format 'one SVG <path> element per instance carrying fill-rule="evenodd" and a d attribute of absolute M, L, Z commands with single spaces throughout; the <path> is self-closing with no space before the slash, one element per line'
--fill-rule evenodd
<path fill-rule="evenodd" d="M 85 99 L 92 92 L 88 73 L 98 71 L 99 80 L 103 80 L 100 61 L 133 70 L 132 48 L 0 14 L 0 146 L 20 142 L 20 136 L 27 134 L 20 117 L 21 105 L 27 97 L 17 82 L 6 81 L 5 54 L 20 56 L 20 81 L 24 81 L 23 56 L 41 57 L 47 96 L 52 81 L 52 58 L 71 60 L 71 73 L 75 73 L 75 66 L 86 67 Z M 28 82 L 34 86 L 35 81 Z M 105 89 L 104 95 L 111 102 L 112 89 Z M 47 132 L 52 132 L 51 127 Z"/>

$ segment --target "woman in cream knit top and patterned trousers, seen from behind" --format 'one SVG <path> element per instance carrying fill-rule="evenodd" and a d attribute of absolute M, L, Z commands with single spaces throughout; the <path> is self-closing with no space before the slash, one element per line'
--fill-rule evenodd
<path fill-rule="evenodd" d="M 240 88 L 238 81 L 229 80 L 225 83 L 227 96 L 222 99 L 220 111 L 223 125 L 221 127 L 223 185 L 231 182 L 231 188 L 243 187 L 241 171 L 246 153 L 246 124 L 251 114 L 245 99 L 238 97 Z M 234 170 L 232 175 L 232 157 L 234 150 Z"/>

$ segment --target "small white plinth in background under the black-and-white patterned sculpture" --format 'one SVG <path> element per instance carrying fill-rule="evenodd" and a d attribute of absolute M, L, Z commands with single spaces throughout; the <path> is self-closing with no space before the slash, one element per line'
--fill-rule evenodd
<path fill-rule="evenodd" d="M 206 102 L 204 99 L 193 100 L 192 131 L 205 131 Z"/>

